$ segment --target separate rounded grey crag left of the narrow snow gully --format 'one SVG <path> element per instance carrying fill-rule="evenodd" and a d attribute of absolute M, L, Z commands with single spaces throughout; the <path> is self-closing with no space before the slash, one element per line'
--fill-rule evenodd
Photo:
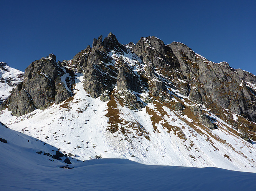
<path fill-rule="evenodd" d="M 67 86 L 71 81 L 71 76 L 56 62 L 56 56 L 50 54 L 49 57 L 36 60 L 26 68 L 24 80 L 3 102 L 1 109 L 7 107 L 12 111 L 12 115 L 21 116 L 36 108 L 44 109 L 53 102 L 59 104 L 72 95 Z"/>

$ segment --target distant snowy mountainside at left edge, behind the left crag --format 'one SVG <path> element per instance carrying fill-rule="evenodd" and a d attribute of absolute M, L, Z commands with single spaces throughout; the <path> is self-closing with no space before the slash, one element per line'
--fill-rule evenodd
<path fill-rule="evenodd" d="M 24 72 L 0 62 L 0 104 L 11 94 L 13 88 L 23 80 Z"/>

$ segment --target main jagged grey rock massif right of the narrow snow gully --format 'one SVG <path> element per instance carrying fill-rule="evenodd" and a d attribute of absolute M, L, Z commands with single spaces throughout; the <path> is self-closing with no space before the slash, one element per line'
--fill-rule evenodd
<path fill-rule="evenodd" d="M 124 56 L 127 53 L 135 53 L 144 68 L 134 72 L 134 66 Z M 109 33 L 103 41 L 102 36 L 94 39 L 92 48 L 88 46 L 69 62 L 77 63 L 71 69 L 84 73 L 84 89 L 94 98 L 116 87 L 117 91 L 122 90 L 117 94 L 119 97 L 128 96 L 124 90 L 148 89 L 158 100 L 169 102 L 170 89 L 175 89 L 193 102 L 207 105 L 216 114 L 225 108 L 256 121 L 256 89 L 251 86 L 256 77 L 230 68 L 226 62 L 210 62 L 180 42 L 165 45 L 152 36 L 125 47 Z M 132 95 L 127 99 L 131 97 L 134 99 Z"/>

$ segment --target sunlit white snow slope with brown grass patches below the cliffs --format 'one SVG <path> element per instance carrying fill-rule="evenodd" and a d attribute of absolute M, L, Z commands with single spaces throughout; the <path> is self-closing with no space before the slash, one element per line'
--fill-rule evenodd
<path fill-rule="evenodd" d="M 158 102 L 136 112 L 117 102 L 119 117 L 129 123 L 140 124 L 144 129 L 138 131 L 140 127 L 134 125 L 126 129 L 129 133 L 111 133 L 107 130 L 108 102 L 93 99 L 84 91 L 82 84 L 83 74 L 77 73 L 73 97 L 21 117 L 12 116 L 10 111 L 4 110 L 0 121 L 82 161 L 97 155 L 159 165 L 231 170 L 255 167 L 256 144 L 251 145 L 230 132 L 228 128 L 231 126 L 214 115 L 211 116 L 216 118 L 219 128 L 210 131 L 197 126 L 197 123 L 189 126 L 187 121 L 193 123 L 193 119 L 182 115 L 177 117 L 177 113 L 167 107 L 163 107 L 160 113 Z M 158 131 L 151 123 L 154 112 L 162 118 L 162 122 L 156 123 Z M 164 123 L 180 128 L 182 132 L 178 129 L 168 132 Z"/>

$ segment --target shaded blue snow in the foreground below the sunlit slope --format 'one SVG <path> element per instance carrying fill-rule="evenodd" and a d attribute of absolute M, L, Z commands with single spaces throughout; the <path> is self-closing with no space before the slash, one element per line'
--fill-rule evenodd
<path fill-rule="evenodd" d="M 127 159 L 66 164 L 36 150 L 56 147 L 0 125 L 0 188 L 14 190 L 253 190 L 256 173 L 220 168 L 144 165 Z M 74 159 L 71 161 L 74 161 Z"/>

